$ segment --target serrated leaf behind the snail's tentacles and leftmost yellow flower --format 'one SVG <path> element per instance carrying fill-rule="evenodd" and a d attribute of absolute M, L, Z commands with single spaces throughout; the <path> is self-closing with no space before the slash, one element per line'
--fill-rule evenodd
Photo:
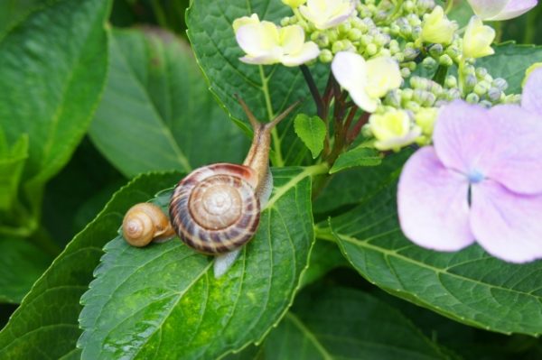
<path fill-rule="evenodd" d="M 308 88 L 301 71 L 286 68 L 283 65 L 257 66 L 244 64 L 238 58 L 243 51 L 238 47 L 231 23 L 238 17 L 258 14 L 260 19 L 278 23 L 291 10 L 280 0 L 199 0 L 193 1 L 187 13 L 188 36 L 201 69 L 210 83 L 211 91 L 219 98 L 234 120 L 244 119 L 235 94 L 242 97 L 254 114 L 262 121 L 269 120 L 295 101 L 307 98 L 301 111 L 315 114 Z M 317 67 L 313 67 L 317 68 Z M 323 76 L 322 69 L 312 69 L 314 74 Z M 285 143 L 282 153 L 272 154 L 276 165 L 284 162 L 298 164 L 304 158 L 310 159 L 304 144 L 295 136 L 292 129 L 294 116 L 279 125 L 280 139 L 276 143 Z M 308 155 L 308 156 L 307 156 Z"/>

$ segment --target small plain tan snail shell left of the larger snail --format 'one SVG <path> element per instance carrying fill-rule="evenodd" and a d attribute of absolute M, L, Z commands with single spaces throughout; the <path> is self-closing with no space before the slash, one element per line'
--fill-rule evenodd
<path fill-rule="evenodd" d="M 174 235 L 173 227 L 162 209 L 151 203 L 136 204 L 126 212 L 122 233 L 129 245 L 137 247 Z"/>

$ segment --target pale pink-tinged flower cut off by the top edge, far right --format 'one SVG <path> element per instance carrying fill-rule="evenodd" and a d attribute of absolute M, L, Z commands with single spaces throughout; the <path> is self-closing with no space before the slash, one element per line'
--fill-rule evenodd
<path fill-rule="evenodd" d="M 468 0 L 482 20 L 509 20 L 527 13 L 537 5 L 537 0 Z"/>

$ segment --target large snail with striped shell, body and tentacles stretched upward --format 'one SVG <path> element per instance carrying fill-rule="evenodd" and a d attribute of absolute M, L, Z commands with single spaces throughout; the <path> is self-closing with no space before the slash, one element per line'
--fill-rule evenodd
<path fill-rule="evenodd" d="M 219 255 L 229 264 L 256 233 L 260 209 L 271 195 L 271 130 L 298 104 L 264 124 L 243 100 L 238 101 L 254 129 L 245 161 L 242 165 L 216 163 L 192 171 L 173 190 L 169 208 L 173 229 L 186 245 L 203 254 Z"/>

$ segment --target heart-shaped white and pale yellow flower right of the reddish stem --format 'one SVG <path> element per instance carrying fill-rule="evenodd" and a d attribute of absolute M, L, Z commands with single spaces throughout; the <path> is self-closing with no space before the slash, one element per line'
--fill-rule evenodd
<path fill-rule="evenodd" d="M 335 54 L 332 71 L 341 87 L 349 91 L 354 103 L 369 113 L 377 109 L 380 97 L 399 88 L 403 81 L 399 66 L 392 58 L 366 61 L 361 55 L 348 51 Z"/>

